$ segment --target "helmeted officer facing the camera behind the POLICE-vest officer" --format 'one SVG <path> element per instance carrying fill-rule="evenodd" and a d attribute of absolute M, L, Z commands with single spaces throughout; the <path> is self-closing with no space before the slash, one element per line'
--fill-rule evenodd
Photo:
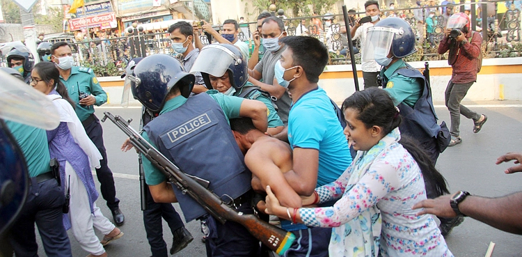
<path fill-rule="evenodd" d="M 219 93 L 263 102 L 268 109 L 267 132 L 278 134 L 283 130 L 283 121 L 270 94 L 248 81 L 247 63 L 239 49 L 232 45 L 212 44 L 203 47 L 200 56 L 190 70 L 192 74 L 201 72 L 205 84 Z"/>

